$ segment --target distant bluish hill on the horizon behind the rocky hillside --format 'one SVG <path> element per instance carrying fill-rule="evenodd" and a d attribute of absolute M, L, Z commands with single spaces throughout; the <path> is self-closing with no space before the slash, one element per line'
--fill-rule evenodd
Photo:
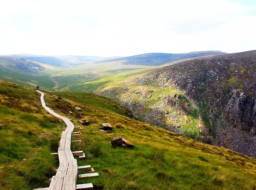
<path fill-rule="evenodd" d="M 120 62 L 126 65 L 146 65 L 146 66 L 158 66 L 181 59 L 188 59 L 193 57 L 224 54 L 221 51 L 197 51 L 189 53 L 146 53 L 141 55 L 134 55 L 129 57 L 109 59 L 103 61 L 96 61 L 95 63 L 103 62 Z"/>

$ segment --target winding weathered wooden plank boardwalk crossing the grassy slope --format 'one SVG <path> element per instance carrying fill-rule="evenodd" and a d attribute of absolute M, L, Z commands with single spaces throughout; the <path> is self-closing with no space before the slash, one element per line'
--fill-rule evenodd
<path fill-rule="evenodd" d="M 70 149 L 71 144 L 71 134 L 75 128 L 74 124 L 66 117 L 63 117 L 54 111 L 52 111 L 49 107 L 46 106 L 44 100 L 44 93 L 41 94 L 40 100 L 42 103 L 42 107 L 45 108 L 50 114 L 58 117 L 64 121 L 67 125 L 65 131 L 62 132 L 60 146 L 58 148 L 58 157 L 59 157 L 59 168 L 55 176 L 52 177 L 51 184 L 48 190 L 75 190 L 82 189 L 81 187 L 88 186 L 88 189 L 91 189 L 92 184 L 79 184 L 76 185 L 77 175 L 78 175 L 78 166 L 77 160 L 74 158 L 73 153 Z M 79 187 L 79 188 L 78 188 Z M 92 187 L 93 188 L 93 187 Z M 87 188 L 86 188 L 87 189 Z"/>

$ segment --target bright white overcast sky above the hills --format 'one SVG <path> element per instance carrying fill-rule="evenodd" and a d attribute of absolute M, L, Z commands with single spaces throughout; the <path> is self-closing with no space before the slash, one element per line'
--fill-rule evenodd
<path fill-rule="evenodd" d="M 256 49 L 255 0 L 0 0 L 0 55 Z"/>

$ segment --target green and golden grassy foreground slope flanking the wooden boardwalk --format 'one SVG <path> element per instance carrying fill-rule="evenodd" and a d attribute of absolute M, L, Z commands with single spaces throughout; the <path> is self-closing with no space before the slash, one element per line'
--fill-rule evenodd
<path fill-rule="evenodd" d="M 76 121 L 81 116 L 74 110 L 78 105 L 85 113 L 84 119 L 91 122 L 82 129 L 83 144 L 73 144 L 72 149 L 84 150 L 88 159 L 78 160 L 78 165 L 90 164 L 100 176 L 78 179 L 78 184 L 93 183 L 118 190 L 256 188 L 253 158 L 126 117 L 126 110 L 107 98 L 88 93 L 54 94 L 68 101 L 46 93 L 49 107 L 73 118 L 78 126 Z M 61 124 L 37 107 L 38 97 L 32 89 L 0 83 L 0 123 L 4 125 L 0 131 L 0 189 L 47 187 L 47 178 L 58 166 L 58 159 L 50 155 L 49 140 L 61 133 Z M 70 110 L 74 115 L 67 115 Z M 100 122 L 109 122 L 115 131 L 98 133 Z M 109 142 L 115 136 L 126 138 L 136 147 L 112 148 Z M 164 160 L 150 159 L 149 153 L 157 149 L 165 150 Z"/>

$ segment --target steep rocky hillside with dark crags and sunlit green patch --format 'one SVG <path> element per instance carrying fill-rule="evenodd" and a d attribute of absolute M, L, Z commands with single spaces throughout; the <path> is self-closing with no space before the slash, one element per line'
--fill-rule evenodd
<path fill-rule="evenodd" d="M 256 51 L 215 55 L 132 75 L 96 92 L 136 117 L 256 157 Z"/>

